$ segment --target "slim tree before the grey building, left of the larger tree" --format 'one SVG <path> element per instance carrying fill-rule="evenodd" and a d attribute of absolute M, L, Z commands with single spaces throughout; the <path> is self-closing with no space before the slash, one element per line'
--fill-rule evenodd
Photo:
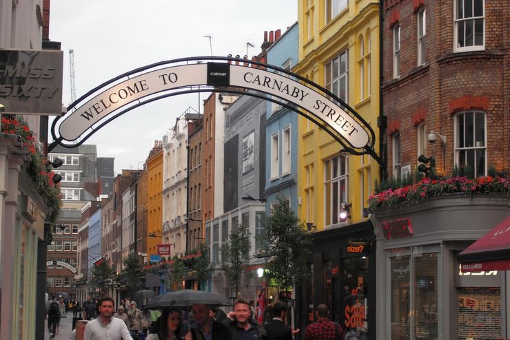
<path fill-rule="evenodd" d="M 239 226 L 234 233 L 231 233 L 227 244 L 221 248 L 223 257 L 221 268 L 225 270 L 230 286 L 236 287 L 236 296 L 241 275 L 249 264 L 250 248 L 251 244 L 249 243 L 249 233 L 246 226 Z"/>

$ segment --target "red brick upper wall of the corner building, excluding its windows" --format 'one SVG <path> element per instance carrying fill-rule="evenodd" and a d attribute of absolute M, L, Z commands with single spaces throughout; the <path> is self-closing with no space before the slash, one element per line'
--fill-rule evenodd
<path fill-rule="evenodd" d="M 388 169 L 392 168 L 390 136 L 400 132 L 400 164 L 418 164 L 417 129 L 427 124 L 447 138 L 445 163 L 440 143 L 428 146 L 438 173 L 454 166 L 454 118 L 459 112 L 484 111 L 487 168 L 510 170 L 510 8 L 504 1 L 484 1 L 484 50 L 453 49 L 455 1 L 385 0 L 383 30 L 383 111 L 387 116 Z M 426 10 L 425 65 L 418 66 L 417 11 Z M 400 77 L 394 78 L 392 27 L 400 25 Z M 446 169 L 445 169 L 446 168 Z M 444 172 L 443 172 L 444 171 Z M 389 171 L 391 173 L 391 171 Z"/>

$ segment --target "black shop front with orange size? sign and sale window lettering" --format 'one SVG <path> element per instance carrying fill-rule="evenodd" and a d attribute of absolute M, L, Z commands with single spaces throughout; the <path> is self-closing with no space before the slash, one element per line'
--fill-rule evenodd
<path fill-rule="evenodd" d="M 314 233 L 312 279 L 298 288 L 298 325 L 315 321 L 319 304 L 343 326 L 345 339 L 376 339 L 376 249 L 371 222 Z"/>

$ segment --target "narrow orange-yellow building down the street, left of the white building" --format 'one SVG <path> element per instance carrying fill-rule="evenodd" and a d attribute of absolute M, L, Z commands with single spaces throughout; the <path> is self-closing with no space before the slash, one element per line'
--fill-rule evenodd
<path fill-rule="evenodd" d="M 147 258 L 158 254 L 163 226 L 163 149 L 161 142 L 154 145 L 145 164 L 149 178 L 149 204 L 147 204 Z"/>

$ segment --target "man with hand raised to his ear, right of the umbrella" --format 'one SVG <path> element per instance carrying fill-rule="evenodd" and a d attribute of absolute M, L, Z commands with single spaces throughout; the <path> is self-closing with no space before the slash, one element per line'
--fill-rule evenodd
<path fill-rule="evenodd" d="M 266 339 L 265 329 L 252 318 L 249 302 L 239 298 L 234 301 L 234 311 L 227 314 L 227 326 L 235 340 Z"/>

